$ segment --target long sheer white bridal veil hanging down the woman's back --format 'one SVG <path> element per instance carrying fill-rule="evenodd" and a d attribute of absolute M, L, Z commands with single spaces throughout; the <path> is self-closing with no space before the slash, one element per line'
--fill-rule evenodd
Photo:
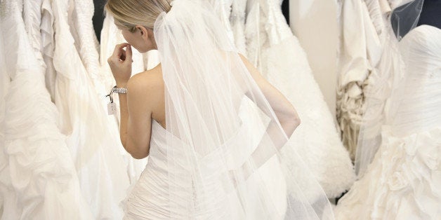
<path fill-rule="evenodd" d="M 144 193 L 155 197 L 133 191 L 132 198 L 141 196 L 149 205 L 129 200 L 126 212 L 138 206 L 143 218 L 160 213 L 169 219 L 333 219 L 301 158 L 293 178 L 281 176 L 278 152 L 287 136 L 210 7 L 173 1 L 155 22 L 166 130 L 162 147 L 151 149 L 150 162 L 158 161 L 158 167 L 147 165 L 141 177 L 150 189 Z M 158 126 L 153 123 L 153 130 Z M 268 165 L 279 172 L 276 181 L 265 172 Z M 163 178 L 148 175 L 153 170 Z M 271 195 L 283 179 L 295 190 Z M 147 212 L 154 207 L 161 209 Z"/>

